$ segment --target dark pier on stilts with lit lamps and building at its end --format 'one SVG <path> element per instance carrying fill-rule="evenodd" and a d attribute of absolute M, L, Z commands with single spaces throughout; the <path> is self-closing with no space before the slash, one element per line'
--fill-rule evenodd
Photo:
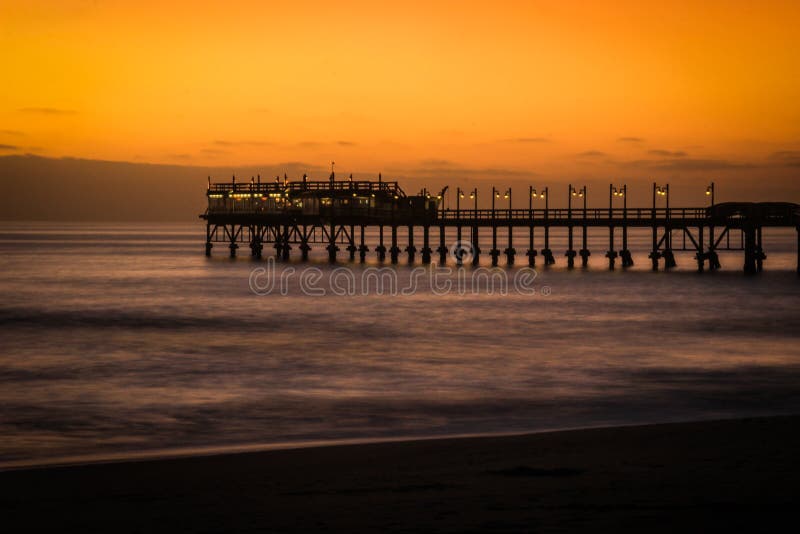
<path fill-rule="evenodd" d="M 351 261 L 358 255 L 359 261 L 364 262 L 374 252 L 381 262 L 386 261 L 388 253 L 389 261 L 396 264 L 405 253 L 413 263 L 419 252 L 422 263 L 428 264 L 435 252 L 438 263 L 443 265 L 452 252 L 451 261 L 456 264 L 466 260 L 479 265 L 484 253 L 479 248 L 481 232 L 486 230 L 491 232 L 491 264 L 497 266 L 500 257 L 505 256 L 505 263 L 513 265 L 517 256 L 514 229 L 523 228 L 528 230 L 525 256 L 533 267 L 537 257 L 544 265 L 556 263 L 558 254 L 551 249 L 550 231 L 565 228 L 563 257 L 567 267 L 574 268 L 576 258 L 582 267 L 589 263 L 587 236 L 592 228 L 607 232 L 604 257 L 609 269 L 614 269 L 617 260 L 623 268 L 633 265 L 628 230 L 648 228 L 652 232 L 648 252 L 653 270 L 675 267 L 674 253 L 690 251 L 694 252 L 698 271 L 713 271 L 721 267 L 718 251 L 736 250 L 743 252 L 744 272 L 754 274 L 762 270 L 766 259 L 763 228 L 793 227 L 798 235 L 800 273 L 800 206 L 786 202 L 715 204 L 713 183 L 706 190 L 710 206 L 692 208 L 670 207 L 669 185 L 655 183 L 649 207 L 628 207 L 627 186 L 609 185 L 608 207 L 588 208 L 587 188 L 569 185 L 566 208 L 549 207 L 549 188 L 537 191 L 530 187 L 527 209 L 511 207 L 511 189 L 501 192 L 495 188 L 490 209 L 478 208 L 477 189 L 466 192 L 460 188 L 456 190 L 456 208 L 445 209 L 442 199 L 447 189 L 436 194 L 422 190 L 417 195 L 407 195 L 397 182 L 384 181 L 380 175 L 376 181 L 353 180 L 352 175 L 347 180 L 336 180 L 333 172 L 324 181 L 311 181 L 305 175 L 298 181 L 284 176 L 274 182 L 262 182 L 260 177 L 237 182 L 234 177 L 230 182 L 212 183 L 209 178 L 208 208 L 200 215 L 206 221 L 206 255 L 211 255 L 215 244 L 224 244 L 232 258 L 243 246 L 250 248 L 251 256 L 261 258 L 264 248 L 271 244 L 280 259 L 288 260 L 296 247 L 301 260 L 308 260 L 312 245 L 322 245 L 331 262 L 336 262 L 344 249 Z M 377 243 L 367 244 L 368 227 L 377 228 Z M 407 238 L 400 243 L 398 229 L 404 227 L 408 228 Z M 420 228 L 422 243 L 418 249 L 414 234 Z M 445 239 L 446 228 L 456 230 L 453 250 Z M 507 230 L 502 250 L 498 229 Z M 539 250 L 534 240 L 537 229 L 543 234 Z M 621 233 L 619 241 L 615 239 L 617 230 Z M 581 248 L 576 250 L 578 231 Z M 465 232 L 469 234 L 468 242 L 462 240 Z M 434 250 L 433 246 L 437 248 Z"/>

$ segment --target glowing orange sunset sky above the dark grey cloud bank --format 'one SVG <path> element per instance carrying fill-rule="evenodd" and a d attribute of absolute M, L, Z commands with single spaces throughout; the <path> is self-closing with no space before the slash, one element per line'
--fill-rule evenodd
<path fill-rule="evenodd" d="M 798 28 L 797 1 L 4 0 L 0 155 L 755 179 L 800 168 Z"/>

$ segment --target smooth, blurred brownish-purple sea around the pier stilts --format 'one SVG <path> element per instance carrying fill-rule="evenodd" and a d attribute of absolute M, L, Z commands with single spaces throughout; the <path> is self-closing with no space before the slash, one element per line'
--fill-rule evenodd
<path fill-rule="evenodd" d="M 766 234 L 751 278 L 738 252 L 713 275 L 689 253 L 651 273 L 647 234 L 635 268 L 608 272 L 603 232 L 590 270 L 568 272 L 556 235 L 535 295 L 436 295 L 422 277 L 413 295 L 315 297 L 292 263 L 287 295 L 259 296 L 248 279 L 265 262 L 223 246 L 207 259 L 203 239 L 4 223 L 0 466 L 800 412 L 793 230 Z"/>

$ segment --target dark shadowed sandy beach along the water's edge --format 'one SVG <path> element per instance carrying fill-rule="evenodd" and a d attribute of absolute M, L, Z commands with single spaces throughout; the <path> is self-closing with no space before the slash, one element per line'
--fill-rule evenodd
<path fill-rule="evenodd" d="M 0 473 L 5 532 L 764 530 L 800 416 Z"/>

